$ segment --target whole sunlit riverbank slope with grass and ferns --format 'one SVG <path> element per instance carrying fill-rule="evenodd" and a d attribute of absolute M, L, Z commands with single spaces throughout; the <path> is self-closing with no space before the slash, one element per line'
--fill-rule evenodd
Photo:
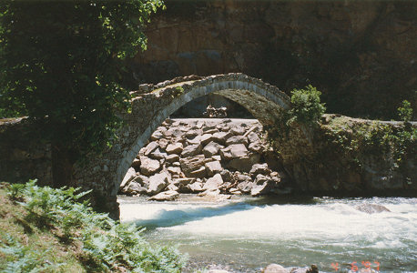
<path fill-rule="evenodd" d="M 0 272 L 180 272 L 175 248 L 93 211 L 74 188 L 0 184 Z"/>

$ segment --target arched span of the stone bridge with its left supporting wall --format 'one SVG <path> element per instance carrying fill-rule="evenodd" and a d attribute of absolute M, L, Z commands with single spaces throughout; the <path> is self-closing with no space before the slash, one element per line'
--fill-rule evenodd
<path fill-rule="evenodd" d="M 76 186 L 94 188 L 107 198 L 107 205 L 117 205 L 118 187 L 151 134 L 179 107 L 210 93 L 244 106 L 262 125 L 272 126 L 281 109 L 290 109 L 290 97 L 278 87 L 239 73 L 178 77 L 156 86 L 139 86 L 138 91 L 132 92 L 131 113 L 122 116 L 126 126 L 119 131 L 117 143 L 101 157 L 92 158 L 90 167 L 76 171 Z M 309 141 L 307 129 L 300 127 L 300 134 L 301 142 Z"/>

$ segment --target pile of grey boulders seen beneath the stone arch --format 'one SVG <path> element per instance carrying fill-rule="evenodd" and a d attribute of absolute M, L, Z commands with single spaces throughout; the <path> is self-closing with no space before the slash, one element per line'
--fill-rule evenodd
<path fill-rule="evenodd" d="M 257 120 L 166 120 L 127 171 L 119 193 L 174 200 L 179 193 L 228 198 L 279 191 L 282 172 L 263 162 Z"/>

